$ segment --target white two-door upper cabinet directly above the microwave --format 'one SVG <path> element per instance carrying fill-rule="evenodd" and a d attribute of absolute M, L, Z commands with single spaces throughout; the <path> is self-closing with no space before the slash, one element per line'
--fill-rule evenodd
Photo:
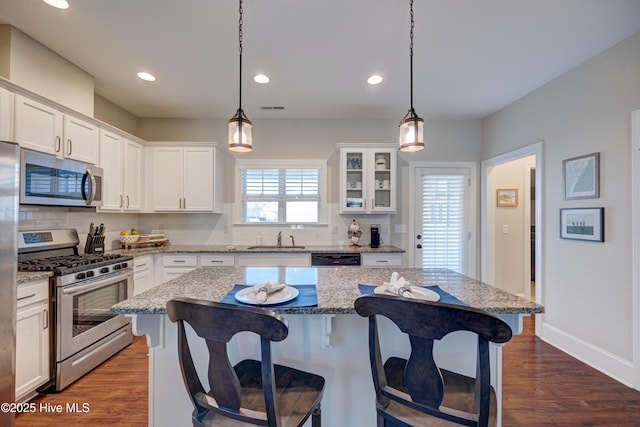
<path fill-rule="evenodd" d="M 98 135 L 91 123 L 15 95 L 15 140 L 21 147 L 97 164 Z"/>

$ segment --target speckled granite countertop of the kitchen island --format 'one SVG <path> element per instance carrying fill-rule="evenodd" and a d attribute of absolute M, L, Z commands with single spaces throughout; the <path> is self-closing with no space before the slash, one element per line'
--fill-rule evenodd
<path fill-rule="evenodd" d="M 167 301 L 189 297 L 221 301 L 235 284 L 247 283 L 247 270 L 253 267 L 202 267 L 129 298 L 111 308 L 114 314 L 165 314 Z M 278 268 L 285 277 L 285 267 Z M 303 267 L 307 277 L 315 277 L 316 307 L 269 308 L 282 314 L 353 314 L 360 296 L 358 284 L 382 285 L 397 271 L 414 285 L 439 286 L 465 304 L 493 314 L 544 313 L 544 307 L 447 269 Z M 290 283 L 291 284 L 291 283 Z M 302 283 L 299 283 L 302 284 Z M 295 284 L 294 284 L 295 285 Z"/>

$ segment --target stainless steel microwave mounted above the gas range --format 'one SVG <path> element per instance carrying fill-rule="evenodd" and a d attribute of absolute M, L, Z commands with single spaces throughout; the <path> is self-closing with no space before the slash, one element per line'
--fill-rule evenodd
<path fill-rule="evenodd" d="M 20 204 L 102 206 L 102 168 L 20 150 Z"/>

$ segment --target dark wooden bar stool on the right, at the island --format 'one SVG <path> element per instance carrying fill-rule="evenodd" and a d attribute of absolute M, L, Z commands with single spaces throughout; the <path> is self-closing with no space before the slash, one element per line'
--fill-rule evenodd
<path fill-rule="evenodd" d="M 502 319 L 460 305 L 385 295 L 360 297 L 355 309 L 369 318 L 369 359 L 379 427 L 495 425 L 489 342 L 511 339 L 511 328 Z M 395 356 L 382 360 L 376 316 L 389 318 L 408 334 L 408 360 Z M 475 378 L 441 369 L 434 360 L 434 341 L 454 331 L 478 336 Z"/>

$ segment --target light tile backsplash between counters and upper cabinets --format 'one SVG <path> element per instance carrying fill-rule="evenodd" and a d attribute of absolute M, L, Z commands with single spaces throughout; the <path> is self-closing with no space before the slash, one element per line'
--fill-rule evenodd
<path fill-rule="evenodd" d="M 282 231 L 283 244 L 290 244 L 290 235 L 298 245 L 348 245 L 348 229 L 356 219 L 362 229 L 361 245 L 368 245 L 370 226 L 379 224 L 382 244 L 391 243 L 389 215 L 339 215 L 338 206 L 328 207 L 327 223 L 313 226 L 236 225 L 233 223 L 233 205 L 224 206 L 222 214 L 208 213 L 110 213 L 88 208 L 50 206 L 20 206 L 19 228 L 39 230 L 46 228 L 75 228 L 80 237 L 80 250 L 89 225 L 103 223 L 106 228 L 105 246 L 120 247 L 121 230 L 137 228 L 141 233 L 163 232 L 173 245 L 254 245 L 257 236 L 262 244 L 276 243 Z"/>

